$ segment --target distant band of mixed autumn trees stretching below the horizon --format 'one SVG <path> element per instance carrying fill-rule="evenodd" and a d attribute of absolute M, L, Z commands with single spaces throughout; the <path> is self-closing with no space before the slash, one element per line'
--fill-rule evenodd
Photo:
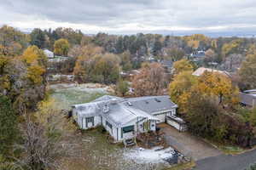
<path fill-rule="evenodd" d="M 24 34 L 10 26 L 3 26 L 0 35 L 0 54 L 3 55 L 22 54 L 29 45 L 35 45 L 55 51 L 57 55 L 72 57 L 67 59 L 67 63 L 53 65 L 63 74 L 73 73 L 76 59 L 84 46 L 89 44 L 101 47 L 104 53 L 117 54 L 123 71 L 141 68 L 142 63 L 150 57 L 177 61 L 203 50 L 207 51 L 206 58 L 199 65 L 212 67 L 211 64 L 217 62 L 218 69 L 236 72 L 246 55 L 255 48 L 254 38 L 211 38 L 201 34 L 173 37 L 143 33 L 131 36 L 98 33 L 87 36 L 79 30 L 61 27 L 44 31 L 36 28 L 30 34 Z"/>

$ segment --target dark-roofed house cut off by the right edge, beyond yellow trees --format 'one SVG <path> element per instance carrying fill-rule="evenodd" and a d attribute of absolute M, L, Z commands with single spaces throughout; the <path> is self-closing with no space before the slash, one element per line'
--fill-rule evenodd
<path fill-rule="evenodd" d="M 256 89 L 246 90 L 240 93 L 240 103 L 248 107 L 256 106 Z"/>

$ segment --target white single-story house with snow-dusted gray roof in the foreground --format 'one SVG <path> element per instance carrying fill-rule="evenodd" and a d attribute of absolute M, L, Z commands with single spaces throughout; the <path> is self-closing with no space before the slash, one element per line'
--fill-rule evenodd
<path fill-rule="evenodd" d="M 102 125 L 115 141 L 155 131 L 156 124 L 176 116 L 169 96 L 119 98 L 105 95 L 90 103 L 73 105 L 73 118 L 82 129 Z"/>

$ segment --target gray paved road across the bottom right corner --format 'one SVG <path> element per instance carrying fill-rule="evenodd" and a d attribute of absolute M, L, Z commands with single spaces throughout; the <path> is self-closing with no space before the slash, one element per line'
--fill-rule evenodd
<path fill-rule="evenodd" d="M 213 156 L 196 161 L 195 170 L 244 170 L 256 162 L 256 150 L 237 156 Z"/>

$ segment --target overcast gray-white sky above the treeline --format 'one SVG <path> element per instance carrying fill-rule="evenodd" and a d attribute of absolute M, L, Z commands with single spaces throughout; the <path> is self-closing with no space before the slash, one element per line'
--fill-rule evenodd
<path fill-rule="evenodd" d="M 0 25 L 84 33 L 256 28 L 255 0 L 0 0 Z"/>

